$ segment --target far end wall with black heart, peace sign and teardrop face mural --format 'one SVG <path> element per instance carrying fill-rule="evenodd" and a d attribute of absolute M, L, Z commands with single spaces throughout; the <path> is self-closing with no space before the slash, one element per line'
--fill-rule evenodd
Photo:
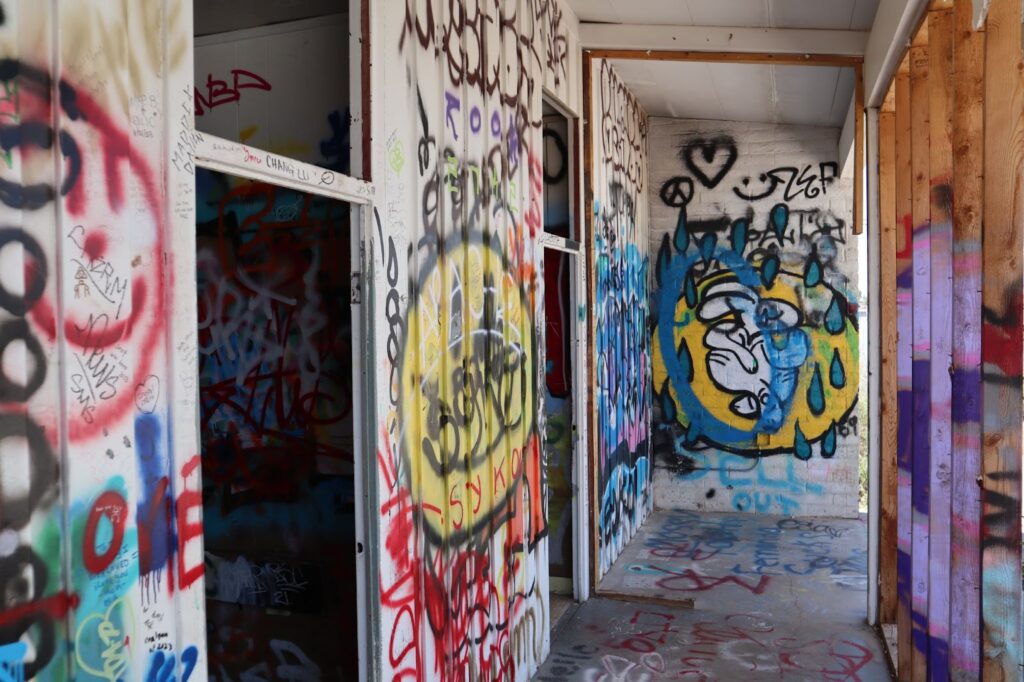
<path fill-rule="evenodd" d="M 659 506 L 857 512 L 857 252 L 837 140 L 651 124 Z"/>

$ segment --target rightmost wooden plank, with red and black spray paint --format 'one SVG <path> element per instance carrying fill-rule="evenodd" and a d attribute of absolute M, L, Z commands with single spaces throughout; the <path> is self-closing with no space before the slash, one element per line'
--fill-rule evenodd
<path fill-rule="evenodd" d="M 982 240 L 982 675 L 1021 679 L 1021 240 L 1024 83 L 1020 0 L 992 0 L 985 26 Z"/>

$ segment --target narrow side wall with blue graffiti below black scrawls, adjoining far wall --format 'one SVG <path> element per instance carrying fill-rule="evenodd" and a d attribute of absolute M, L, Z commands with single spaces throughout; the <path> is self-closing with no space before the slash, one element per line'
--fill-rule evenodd
<path fill-rule="evenodd" d="M 652 508 L 647 115 L 603 59 L 592 62 L 594 368 L 599 572 Z"/>

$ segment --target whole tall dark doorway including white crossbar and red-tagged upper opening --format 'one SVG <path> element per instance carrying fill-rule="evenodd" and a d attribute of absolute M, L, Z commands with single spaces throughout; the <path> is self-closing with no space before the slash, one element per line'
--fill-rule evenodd
<path fill-rule="evenodd" d="M 208 676 L 366 679 L 359 3 L 207 4 L 195 111 Z"/>

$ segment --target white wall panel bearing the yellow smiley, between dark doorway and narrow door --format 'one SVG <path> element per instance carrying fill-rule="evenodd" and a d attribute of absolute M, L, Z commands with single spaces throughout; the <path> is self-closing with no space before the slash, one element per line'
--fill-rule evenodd
<path fill-rule="evenodd" d="M 557 0 L 410 0 L 380 19 L 376 665 L 524 680 L 550 628 L 542 91 L 575 111 L 575 18 Z"/>

